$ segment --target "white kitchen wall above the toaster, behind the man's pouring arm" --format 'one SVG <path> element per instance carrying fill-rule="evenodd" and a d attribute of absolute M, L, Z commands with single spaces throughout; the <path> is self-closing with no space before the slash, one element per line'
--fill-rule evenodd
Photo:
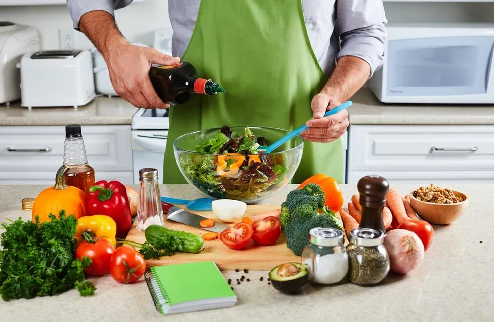
<path fill-rule="evenodd" d="M 84 1 L 84 0 L 83 0 Z M 115 12 L 117 24 L 130 41 L 153 45 L 154 31 L 171 28 L 168 18 L 167 0 L 147 0 L 119 9 Z M 58 29 L 72 28 L 72 20 L 66 6 L 0 6 L 0 21 L 36 27 L 40 33 L 41 49 L 58 49 Z M 84 34 L 77 32 L 80 49 L 90 49 L 91 42 Z"/>

